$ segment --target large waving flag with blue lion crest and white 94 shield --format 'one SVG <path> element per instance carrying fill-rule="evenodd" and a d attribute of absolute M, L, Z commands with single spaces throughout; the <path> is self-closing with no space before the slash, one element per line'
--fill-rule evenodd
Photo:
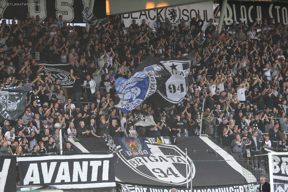
<path fill-rule="evenodd" d="M 186 76 L 190 71 L 190 60 L 160 62 L 153 58 L 147 60 L 152 61 L 152 65 L 144 68 L 143 71 L 135 73 L 129 79 L 116 80 L 115 89 L 120 102 L 115 107 L 126 114 L 156 92 L 157 95 L 174 104 L 182 101 L 186 95 L 189 86 L 186 85 Z"/>

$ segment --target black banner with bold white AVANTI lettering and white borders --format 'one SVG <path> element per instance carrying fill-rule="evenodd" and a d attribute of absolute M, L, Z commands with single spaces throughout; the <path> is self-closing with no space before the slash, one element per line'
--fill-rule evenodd
<path fill-rule="evenodd" d="M 115 187 L 113 155 L 18 157 L 20 185 L 58 189 Z"/>

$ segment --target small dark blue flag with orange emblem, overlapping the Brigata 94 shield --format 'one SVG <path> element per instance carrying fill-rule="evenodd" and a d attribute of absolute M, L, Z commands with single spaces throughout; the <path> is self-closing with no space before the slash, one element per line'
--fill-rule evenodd
<path fill-rule="evenodd" d="M 127 157 L 150 157 L 151 151 L 142 137 L 118 137 L 117 139 Z"/>

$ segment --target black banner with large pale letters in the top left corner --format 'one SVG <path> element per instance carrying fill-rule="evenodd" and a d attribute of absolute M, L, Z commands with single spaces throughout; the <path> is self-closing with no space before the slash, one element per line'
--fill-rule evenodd
<path fill-rule="evenodd" d="M 39 15 L 40 20 L 48 21 L 49 18 L 59 19 L 63 16 L 63 21 L 71 23 L 85 23 L 82 17 L 82 11 L 89 6 L 89 0 L 24 0 L 24 1 L 8 1 L 1 0 L 0 14 L 3 19 L 17 19 L 23 21 L 26 14 L 30 13 L 30 18 Z M 104 0 L 95 1 L 93 14 L 97 18 L 106 16 L 106 4 Z"/>

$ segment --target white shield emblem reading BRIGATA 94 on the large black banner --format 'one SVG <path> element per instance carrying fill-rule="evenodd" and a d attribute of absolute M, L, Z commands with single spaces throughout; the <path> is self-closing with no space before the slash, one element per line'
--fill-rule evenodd
<path fill-rule="evenodd" d="M 147 144 L 147 146 L 151 150 L 150 157 L 134 157 L 131 159 L 129 157 L 126 157 L 126 155 L 124 155 L 123 152 L 120 152 L 119 154 L 117 153 L 117 155 L 123 160 L 123 162 L 126 165 L 128 165 L 135 172 L 137 172 L 140 175 L 143 175 L 146 178 L 150 178 L 152 180 L 160 181 L 163 183 L 170 183 L 170 184 L 173 183 L 177 185 L 186 183 L 186 177 L 183 176 L 183 175 L 186 175 L 186 170 L 179 170 L 176 168 L 178 165 L 180 166 L 186 165 L 184 152 L 182 152 L 178 147 L 171 146 L 171 145 Z M 164 154 L 162 150 L 166 151 L 167 149 L 174 150 L 175 153 L 171 153 L 171 154 L 177 154 L 177 155 Z M 120 151 L 122 151 L 122 149 Z M 188 157 L 188 162 L 190 161 L 191 160 Z M 145 172 L 141 172 L 138 169 L 138 166 L 140 165 L 142 167 L 143 166 L 146 167 Z M 194 164 L 192 164 L 192 167 L 190 164 L 188 164 L 188 175 L 189 175 L 188 181 L 191 180 L 191 177 L 190 177 L 191 171 L 192 171 L 192 178 L 193 178 L 195 175 Z"/>

